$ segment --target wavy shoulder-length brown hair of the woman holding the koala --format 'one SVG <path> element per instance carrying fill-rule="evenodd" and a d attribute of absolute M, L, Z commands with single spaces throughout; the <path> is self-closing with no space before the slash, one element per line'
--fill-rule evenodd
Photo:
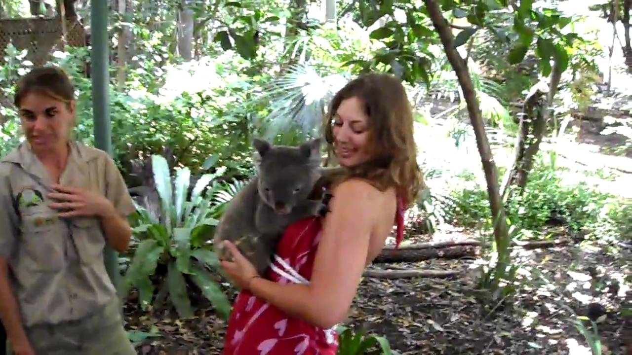
<path fill-rule="evenodd" d="M 425 182 L 416 160 L 413 111 L 406 90 L 398 78 L 387 73 L 360 75 L 339 90 L 324 119 L 327 162 L 336 161 L 333 117 L 341 102 L 351 97 L 363 103 L 368 116 L 368 143 L 376 156 L 370 162 L 345 169 L 343 179 L 367 179 L 382 191 L 394 187 L 408 207 L 425 188 Z"/>

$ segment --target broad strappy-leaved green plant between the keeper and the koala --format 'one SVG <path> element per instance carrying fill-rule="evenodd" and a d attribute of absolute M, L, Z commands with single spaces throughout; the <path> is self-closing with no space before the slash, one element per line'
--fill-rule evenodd
<path fill-rule="evenodd" d="M 219 260 L 214 251 L 206 246 L 212 229 L 217 226 L 216 209 L 221 203 L 214 203 L 214 194 L 220 190 L 217 183 L 209 183 L 221 175 L 226 168 L 217 169 L 213 174 L 202 175 L 187 198 L 190 190 L 190 170 L 176 169 L 174 178 L 169 174 L 167 160 L 160 155 L 152 155 L 152 169 L 155 187 L 160 196 L 161 214 L 149 214 L 147 209 L 137 205 L 138 214 L 133 232 L 140 239 L 131 260 L 121 295 L 126 296 L 131 287 L 137 287 L 140 304 L 147 309 L 154 298 L 152 275 L 157 273 L 159 264 L 166 265 L 167 275 L 159 281 L 159 293 L 155 302 L 167 298 L 182 318 L 193 316 L 187 293 L 186 279 L 197 285 L 205 298 L 224 318 L 228 317 L 231 305 L 211 270 L 219 272 Z M 172 182 L 173 180 L 173 182 Z"/>

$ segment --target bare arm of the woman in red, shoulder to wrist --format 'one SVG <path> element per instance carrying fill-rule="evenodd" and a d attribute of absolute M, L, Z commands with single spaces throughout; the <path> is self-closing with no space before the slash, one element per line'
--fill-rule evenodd
<path fill-rule="evenodd" d="M 347 315 L 367 261 L 379 203 L 368 183 L 340 184 L 330 202 L 310 284 L 277 284 L 253 279 L 250 291 L 289 315 L 329 328 Z"/>

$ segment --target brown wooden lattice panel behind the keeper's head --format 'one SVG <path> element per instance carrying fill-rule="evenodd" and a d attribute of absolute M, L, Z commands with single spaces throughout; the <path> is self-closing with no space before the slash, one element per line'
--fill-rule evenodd
<path fill-rule="evenodd" d="M 51 59 L 54 51 L 63 50 L 64 44 L 85 47 L 86 36 L 83 25 L 76 18 L 67 19 L 65 26 L 59 16 L 11 18 L 0 20 L 0 64 L 4 63 L 4 50 L 9 43 L 18 51 L 27 49 L 25 60 L 40 66 Z"/>

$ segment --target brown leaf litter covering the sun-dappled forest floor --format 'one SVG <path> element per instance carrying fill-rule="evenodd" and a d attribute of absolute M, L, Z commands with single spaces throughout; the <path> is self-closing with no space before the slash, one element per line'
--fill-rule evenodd
<path fill-rule="evenodd" d="M 411 243 L 473 239 L 471 232 L 447 229 Z M 423 238 L 423 240 L 422 240 Z M 374 264 L 370 268 L 461 270 L 448 279 L 365 277 L 345 325 L 384 335 L 400 354 L 590 354 L 573 321 L 599 318 L 602 354 L 629 354 L 632 320 L 622 309 L 632 301 L 629 250 L 616 258 L 594 246 L 569 244 L 540 250 L 516 249 L 522 265 L 520 286 L 511 299 L 476 291 L 480 258 L 434 259 L 417 263 Z M 626 263 L 626 260 L 628 262 Z M 629 277 L 629 276 L 628 276 Z M 236 293 L 225 283 L 231 299 Z M 226 323 L 198 292 L 191 301 L 195 318 L 179 320 L 173 309 L 142 311 L 132 294 L 125 304 L 126 328 L 157 334 L 136 343 L 138 354 L 220 354 Z M 629 317 L 628 317 L 629 318 Z M 591 328 L 590 322 L 585 322 Z M 283 354 L 281 354 L 283 355 Z"/>

